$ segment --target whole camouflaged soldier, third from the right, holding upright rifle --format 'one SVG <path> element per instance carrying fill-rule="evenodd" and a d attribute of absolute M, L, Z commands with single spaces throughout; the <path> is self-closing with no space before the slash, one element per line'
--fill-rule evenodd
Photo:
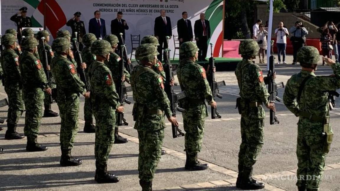
<path fill-rule="evenodd" d="M 202 66 L 196 63 L 198 48 L 192 42 L 185 42 L 180 47 L 180 56 L 183 58 L 177 68 L 178 81 L 187 98 L 182 102 L 183 123 L 185 134 L 186 162 L 185 169 L 190 171 L 205 170 L 208 164 L 201 164 L 197 155 L 202 148 L 204 121 L 208 117 L 204 100 L 212 107 L 216 102 L 212 99 L 212 92 L 206 79 Z"/>

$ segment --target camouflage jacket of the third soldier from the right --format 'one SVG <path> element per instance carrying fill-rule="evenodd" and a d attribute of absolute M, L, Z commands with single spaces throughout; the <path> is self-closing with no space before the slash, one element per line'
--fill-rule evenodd
<path fill-rule="evenodd" d="M 202 66 L 190 59 L 182 59 L 177 68 L 177 77 L 182 91 L 187 94 L 186 100 L 213 101 L 212 92 Z"/>

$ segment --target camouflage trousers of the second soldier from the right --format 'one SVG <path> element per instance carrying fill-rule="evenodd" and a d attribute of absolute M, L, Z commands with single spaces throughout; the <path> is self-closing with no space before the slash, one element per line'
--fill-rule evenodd
<path fill-rule="evenodd" d="M 240 151 L 238 153 L 238 164 L 251 168 L 257 155 L 261 152 L 263 145 L 264 119 L 242 116 L 241 117 L 241 138 Z"/>

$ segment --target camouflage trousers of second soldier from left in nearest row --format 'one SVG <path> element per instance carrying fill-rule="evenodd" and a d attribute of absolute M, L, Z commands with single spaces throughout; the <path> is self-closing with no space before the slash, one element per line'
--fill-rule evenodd
<path fill-rule="evenodd" d="M 43 109 L 44 92 L 41 88 L 23 89 L 25 103 L 25 127 L 24 134 L 28 141 L 37 138 Z"/>

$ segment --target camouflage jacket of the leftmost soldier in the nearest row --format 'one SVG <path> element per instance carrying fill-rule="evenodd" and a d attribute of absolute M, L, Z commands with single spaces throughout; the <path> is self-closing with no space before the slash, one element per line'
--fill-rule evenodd
<path fill-rule="evenodd" d="M 19 56 L 14 50 L 6 49 L 1 52 L 1 68 L 4 86 L 21 85 Z"/>

